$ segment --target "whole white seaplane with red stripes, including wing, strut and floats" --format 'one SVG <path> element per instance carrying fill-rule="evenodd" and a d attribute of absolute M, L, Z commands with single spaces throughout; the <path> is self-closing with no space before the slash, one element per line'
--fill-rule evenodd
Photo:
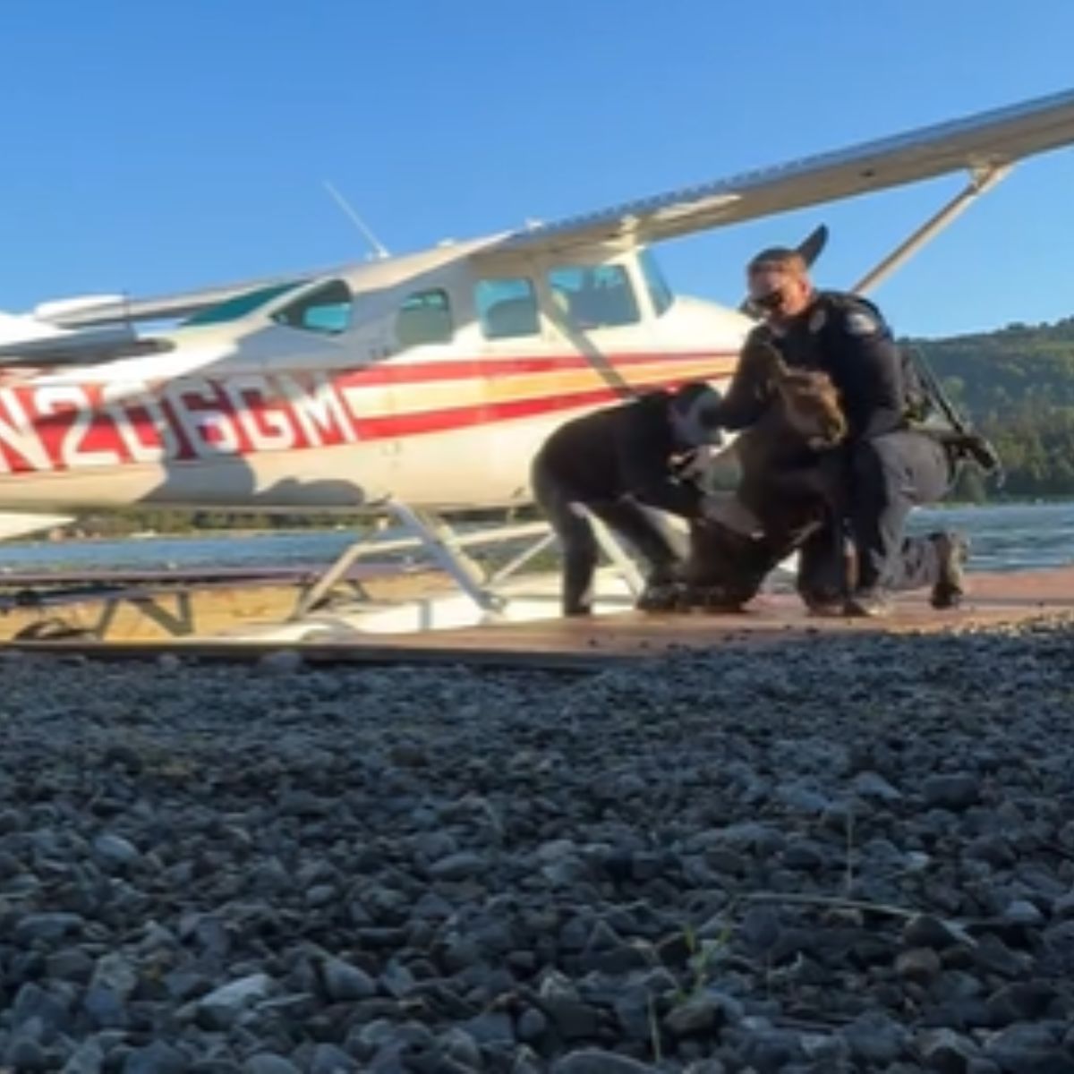
<path fill-rule="evenodd" d="M 656 244 L 966 173 L 854 285 L 865 293 L 1018 161 L 1071 143 L 1074 90 L 420 252 L 5 315 L 3 523 L 129 505 L 369 512 L 403 536 L 348 549 L 297 609 L 292 636 L 317 628 L 313 611 L 355 560 L 389 547 L 431 556 L 458 589 L 366 609 L 348 621 L 360 628 L 555 614 L 554 587 L 542 600 L 518 589 L 551 541 L 541 523 L 465 532 L 452 518 L 529 504 L 529 462 L 563 421 L 690 380 L 727 383 L 752 310 L 674 293 Z M 811 259 L 824 235 L 807 242 Z M 529 537 L 496 571 L 468 552 Z M 628 598 L 637 568 L 610 534 L 601 542 Z"/>

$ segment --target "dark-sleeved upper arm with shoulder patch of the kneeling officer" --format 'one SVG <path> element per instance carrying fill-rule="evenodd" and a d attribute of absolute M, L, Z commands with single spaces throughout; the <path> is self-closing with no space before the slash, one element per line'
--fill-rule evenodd
<path fill-rule="evenodd" d="M 827 358 L 850 438 L 868 440 L 904 427 L 902 355 L 883 320 L 858 306 L 839 308 L 826 331 Z"/>

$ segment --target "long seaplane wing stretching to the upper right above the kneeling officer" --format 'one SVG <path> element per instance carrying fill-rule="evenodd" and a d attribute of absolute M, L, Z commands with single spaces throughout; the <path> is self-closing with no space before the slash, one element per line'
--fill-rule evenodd
<path fill-rule="evenodd" d="M 1074 143 L 1074 90 L 540 223 L 503 248 L 653 243 L 968 169 L 975 175 Z"/>

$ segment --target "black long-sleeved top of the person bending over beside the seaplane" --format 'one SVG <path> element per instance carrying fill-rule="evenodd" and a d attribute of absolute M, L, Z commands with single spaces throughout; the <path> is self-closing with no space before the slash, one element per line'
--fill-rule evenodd
<path fill-rule="evenodd" d="M 561 425 L 540 449 L 540 463 L 579 500 L 622 496 L 691 518 L 700 490 L 676 477 L 677 444 L 669 396 L 653 392 L 630 403 L 584 415 Z"/>

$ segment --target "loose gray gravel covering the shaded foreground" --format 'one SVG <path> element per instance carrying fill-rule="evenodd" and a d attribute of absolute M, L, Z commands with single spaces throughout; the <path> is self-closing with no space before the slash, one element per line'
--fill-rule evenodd
<path fill-rule="evenodd" d="M 1070 625 L 0 676 L 0 1068 L 1074 1072 Z"/>

